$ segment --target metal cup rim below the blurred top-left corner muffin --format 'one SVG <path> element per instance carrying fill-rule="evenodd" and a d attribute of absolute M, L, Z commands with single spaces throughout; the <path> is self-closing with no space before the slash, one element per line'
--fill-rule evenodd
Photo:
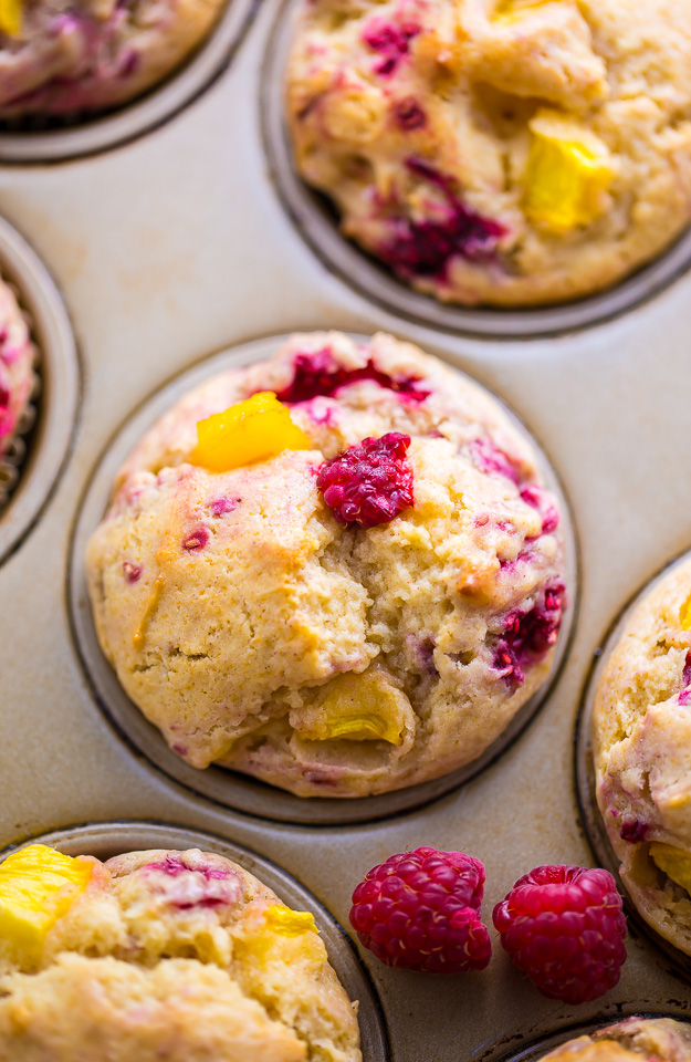
<path fill-rule="evenodd" d="M 198 48 L 143 95 L 62 128 L 0 128 L 0 165 L 46 166 L 116 150 L 156 132 L 195 104 L 231 65 L 260 0 L 226 0 Z M 21 119 L 18 119 L 21 121 Z"/>

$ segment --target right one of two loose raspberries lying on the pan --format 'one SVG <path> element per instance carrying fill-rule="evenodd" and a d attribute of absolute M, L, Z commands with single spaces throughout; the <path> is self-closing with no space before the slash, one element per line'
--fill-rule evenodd
<path fill-rule="evenodd" d="M 608 871 L 536 866 L 492 917 L 514 965 L 549 999 L 587 1003 L 619 980 L 626 918 Z"/>

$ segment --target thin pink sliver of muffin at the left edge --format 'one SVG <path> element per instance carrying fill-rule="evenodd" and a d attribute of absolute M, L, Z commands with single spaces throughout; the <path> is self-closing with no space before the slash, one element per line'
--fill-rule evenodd
<path fill-rule="evenodd" d="M 35 386 L 35 351 L 12 289 L 0 278 L 0 464 L 11 451 Z"/>

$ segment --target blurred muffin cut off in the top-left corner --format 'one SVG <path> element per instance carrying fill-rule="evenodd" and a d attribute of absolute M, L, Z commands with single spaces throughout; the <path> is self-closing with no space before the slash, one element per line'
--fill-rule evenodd
<path fill-rule="evenodd" d="M 128 103 L 201 44 L 221 0 L 8 0 L 0 10 L 0 117 Z"/>

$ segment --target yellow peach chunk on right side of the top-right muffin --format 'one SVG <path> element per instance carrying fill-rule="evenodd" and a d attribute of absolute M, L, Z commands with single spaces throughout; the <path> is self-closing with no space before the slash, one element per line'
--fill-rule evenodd
<path fill-rule="evenodd" d="M 590 225 L 605 210 L 615 176 L 607 147 L 556 112 L 538 112 L 530 128 L 523 195 L 527 218 L 555 233 Z"/>

